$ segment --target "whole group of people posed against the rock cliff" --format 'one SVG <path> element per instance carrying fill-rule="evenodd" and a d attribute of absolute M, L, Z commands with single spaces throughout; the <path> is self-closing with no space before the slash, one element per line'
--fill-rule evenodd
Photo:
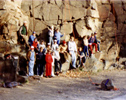
<path fill-rule="evenodd" d="M 53 29 L 53 26 L 48 29 L 48 43 L 46 46 L 45 41 L 38 41 L 36 38 L 36 32 L 33 32 L 29 39 L 26 39 L 27 36 L 27 27 L 26 22 L 19 30 L 20 36 L 24 38 L 26 44 L 30 47 L 30 50 L 27 53 L 27 62 L 28 62 L 28 75 L 34 75 L 34 66 L 37 66 L 37 75 L 42 76 L 44 72 L 46 77 L 53 77 L 62 72 L 62 63 L 63 60 L 66 63 L 70 63 L 72 68 L 84 66 L 86 57 L 89 56 L 89 49 L 92 52 L 92 46 L 95 46 L 95 51 L 100 51 L 99 41 L 96 38 L 96 33 L 92 34 L 91 37 L 83 37 L 84 47 L 80 47 L 77 50 L 74 37 L 71 36 L 68 44 L 66 41 L 60 43 L 60 38 L 63 35 L 59 32 L 59 29 Z M 27 43 L 28 41 L 28 43 Z M 89 47 L 89 49 L 88 49 Z M 71 58 L 71 60 L 70 60 Z M 77 65 L 77 60 L 79 64 Z M 46 66 L 46 67 L 45 67 Z"/>

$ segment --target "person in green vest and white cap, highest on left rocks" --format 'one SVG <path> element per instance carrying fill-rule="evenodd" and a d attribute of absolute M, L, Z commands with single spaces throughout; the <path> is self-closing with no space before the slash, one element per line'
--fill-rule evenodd
<path fill-rule="evenodd" d="M 19 36 L 25 41 L 28 46 L 28 30 L 27 30 L 27 21 L 23 22 L 23 25 L 19 29 Z"/>

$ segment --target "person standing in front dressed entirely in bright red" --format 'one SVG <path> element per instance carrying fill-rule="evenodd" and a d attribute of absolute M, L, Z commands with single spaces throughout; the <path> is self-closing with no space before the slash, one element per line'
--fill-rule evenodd
<path fill-rule="evenodd" d="M 45 61 L 46 61 L 46 77 L 51 77 L 52 62 L 53 62 L 51 50 L 47 51 L 47 54 L 45 56 Z"/>

